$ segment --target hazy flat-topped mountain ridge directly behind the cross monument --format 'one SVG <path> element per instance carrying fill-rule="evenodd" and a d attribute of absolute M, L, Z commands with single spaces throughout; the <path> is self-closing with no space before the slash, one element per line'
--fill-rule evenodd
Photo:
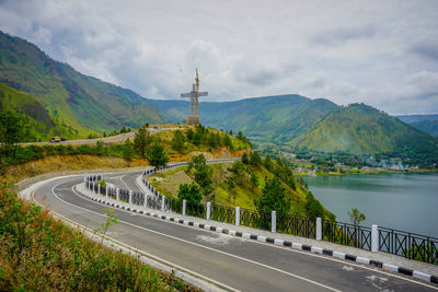
<path fill-rule="evenodd" d="M 188 115 L 188 102 L 147 100 L 145 103 L 157 107 L 171 121 L 183 120 Z M 237 102 L 201 102 L 199 116 L 203 125 L 242 131 L 258 144 L 283 143 L 311 129 L 337 107 L 327 100 L 289 94 Z"/>

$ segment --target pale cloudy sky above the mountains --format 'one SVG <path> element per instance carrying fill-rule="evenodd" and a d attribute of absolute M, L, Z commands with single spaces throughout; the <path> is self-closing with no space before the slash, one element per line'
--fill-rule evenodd
<path fill-rule="evenodd" d="M 438 1 L 0 0 L 0 30 L 81 73 L 175 100 L 300 94 L 438 114 Z"/>

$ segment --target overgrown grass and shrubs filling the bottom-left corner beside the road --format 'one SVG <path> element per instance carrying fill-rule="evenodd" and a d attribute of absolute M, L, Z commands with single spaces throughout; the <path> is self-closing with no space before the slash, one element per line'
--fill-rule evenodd
<path fill-rule="evenodd" d="M 106 231 L 106 230 L 105 230 Z M 199 291 L 0 187 L 1 291 Z"/>

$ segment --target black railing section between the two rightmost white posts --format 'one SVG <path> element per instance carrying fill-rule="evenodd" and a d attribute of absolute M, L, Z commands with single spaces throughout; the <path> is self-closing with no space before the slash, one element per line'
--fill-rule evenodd
<path fill-rule="evenodd" d="M 371 250 L 371 229 L 366 226 L 322 220 L 322 240 Z"/>

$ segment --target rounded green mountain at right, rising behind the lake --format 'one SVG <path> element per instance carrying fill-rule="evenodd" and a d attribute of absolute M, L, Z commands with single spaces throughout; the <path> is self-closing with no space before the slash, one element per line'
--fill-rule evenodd
<path fill-rule="evenodd" d="M 353 154 L 438 155 L 436 139 L 364 104 L 334 110 L 290 144 L 300 149 Z"/>

